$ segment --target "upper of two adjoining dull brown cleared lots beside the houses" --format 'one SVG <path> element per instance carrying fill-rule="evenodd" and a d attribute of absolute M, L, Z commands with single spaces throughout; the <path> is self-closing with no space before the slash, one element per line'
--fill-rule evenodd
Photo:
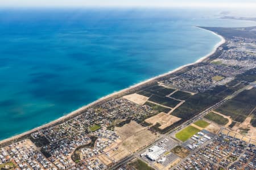
<path fill-rule="evenodd" d="M 131 121 L 129 124 L 125 124 L 122 127 L 115 127 L 115 131 L 117 132 L 117 135 L 119 135 L 121 140 L 125 140 L 131 135 L 134 135 L 138 131 L 142 131 L 144 129 L 146 128 L 143 128 L 135 121 Z"/>

